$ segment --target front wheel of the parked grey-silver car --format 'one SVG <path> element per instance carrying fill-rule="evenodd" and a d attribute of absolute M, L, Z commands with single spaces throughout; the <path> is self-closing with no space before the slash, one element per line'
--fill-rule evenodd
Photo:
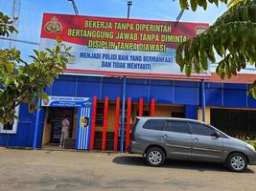
<path fill-rule="evenodd" d="M 227 167 L 233 172 L 243 172 L 247 168 L 248 161 L 244 154 L 233 153 L 227 158 Z"/>

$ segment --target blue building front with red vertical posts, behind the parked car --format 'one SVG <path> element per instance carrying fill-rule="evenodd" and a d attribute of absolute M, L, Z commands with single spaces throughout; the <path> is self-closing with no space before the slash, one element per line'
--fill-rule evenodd
<path fill-rule="evenodd" d="M 120 77 L 64 74 L 60 75 L 46 92 L 49 96 L 91 99 L 97 96 L 93 149 L 101 150 L 104 140 L 105 150 L 113 151 L 117 120 L 118 150 L 121 149 L 120 145 L 125 149 L 127 123 L 132 123 L 136 116 L 187 117 L 202 120 L 202 84 L 205 92 L 206 122 L 231 136 L 256 136 L 256 100 L 247 96 L 248 84 L 221 83 L 213 80 L 201 82 L 137 78 L 127 78 L 124 84 L 124 78 Z M 126 99 L 125 107 L 122 107 L 123 97 Z M 120 115 L 116 114 L 117 99 L 121 100 L 118 104 Z M 128 99 L 130 121 L 127 121 Z M 126 117 L 124 121 L 122 113 Z M 22 104 L 18 114 L 16 131 L 12 132 L 14 125 L 2 126 L 1 146 L 41 148 L 50 143 L 58 143 L 59 121 L 68 116 L 71 121 L 68 146 L 76 148 L 77 122 L 80 120 L 78 107 L 41 106 L 38 112 L 29 114 L 27 105 Z M 122 126 L 125 128 L 123 138 Z M 5 128 L 9 128 L 9 131 L 3 131 Z"/>

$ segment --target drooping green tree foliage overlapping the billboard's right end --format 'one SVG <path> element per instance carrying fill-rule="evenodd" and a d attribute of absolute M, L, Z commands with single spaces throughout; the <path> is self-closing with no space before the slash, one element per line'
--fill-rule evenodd
<path fill-rule="evenodd" d="M 225 11 L 210 28 L 188 39 L 176 49 L 176 62 L 189 76 L 192 71 L 207 70 L 208 60 L 216 63 L 216 53 L 221 56 L 216 73 L 224 77 L 236 75 L 246 64 L 256 63 L 256 0 L 180 0 L 184 10 L 204 10 L 207 4 L 228 4 Z M 256 81 L 248 93 L 256 98 Z"/>

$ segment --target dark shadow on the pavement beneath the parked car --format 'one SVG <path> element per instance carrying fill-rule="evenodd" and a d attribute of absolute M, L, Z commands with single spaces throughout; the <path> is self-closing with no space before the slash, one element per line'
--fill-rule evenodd
<path fill-rule="evenodd" d="M 138 156 L 121 156 L 116 157 L 112 160 L 114 163 L 122 165 L 132 165 L 132 166 L 147 166 L 146 160 L 143 157 Z M 185 161 L 185 160 L 170 160 L 167 159 L 165 164 L 161 168 L 180 168 L 180 169 L 192 169 L 203 171 L 222 171 L 228 172 L 222 164 L 201 162 L 201 161 Z M 247 168 L 244 173 L 255 173 L 254 171 Z"/>

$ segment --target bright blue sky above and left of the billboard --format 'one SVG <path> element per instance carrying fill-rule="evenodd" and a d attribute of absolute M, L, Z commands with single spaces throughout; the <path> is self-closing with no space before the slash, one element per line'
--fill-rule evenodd
<path fill-rule="evenodd" d="M 17 39 L 39 43 L 42 16 L 44 12 L 74 14 L 71 2 L 68 0 L 19 0 L 20 13 Z M 0 11 L 12 15 L 12 0 L 0 0 Z M 80 15 L 106 16 L 126 18 L 128 12 L 127 0 L 75 0 Z M 209 23 L 214 21 L 226 11 L 226 5 L 218 7 L 210 5 L 207 11 L 185 11 L 180 21 Z M 146 20 L 175 21 L 180 8 L 178 0 L 132 0 L 130 18 Z M 36 45 L 14 43 L 21 51 L 25 60 L 33 54 Z M 0 40 L 0 49 L 9 47 L 9 42 Z"/>

